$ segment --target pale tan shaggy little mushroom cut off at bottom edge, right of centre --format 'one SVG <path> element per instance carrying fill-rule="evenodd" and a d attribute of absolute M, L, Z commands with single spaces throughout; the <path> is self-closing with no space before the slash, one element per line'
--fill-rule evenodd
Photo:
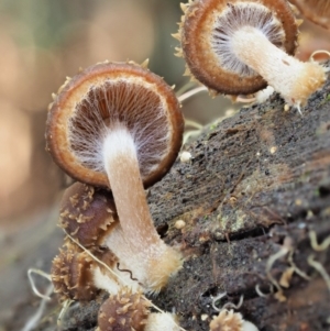
<path fill-rule="evenodd" d="M 240 312 L 222 309 L 210 322 L 210 331 L 257 331 L 251 322 L 245 321 Z"/>

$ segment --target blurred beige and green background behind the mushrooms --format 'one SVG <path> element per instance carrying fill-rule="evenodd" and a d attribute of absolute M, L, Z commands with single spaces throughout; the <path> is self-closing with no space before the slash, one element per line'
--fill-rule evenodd
<path fill-rule="evenodd" d="M 105 59 L 150 58 L 150 68 L 176 90 L 188 82 L 170 34 L 182 15 L 179 0 L 0 0 L 0 330 L 38 298 L 26 271 L 50 271 L 62 244 L 58 200 L 68 179 L 45 152 L 44 126 L 52 92 L 79 67 Z M 302 25 L 298 52 L 330 49 L 329 34 Z M 184 104 L 186 119 L 202 125 L 233 109 L 229 99 L 200 93 Z M 188 129 L 188 125 L 187 125 Z M 34 298 L 34 297 L 33 297 Z"/>

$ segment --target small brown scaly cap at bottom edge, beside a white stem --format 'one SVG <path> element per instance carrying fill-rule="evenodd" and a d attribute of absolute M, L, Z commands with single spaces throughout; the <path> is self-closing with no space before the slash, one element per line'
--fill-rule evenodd
<path fill-rule="evenodd" d="M 110 295 L 98 316 L 99 331 L 143 331 L 150 313 L 150 304 L 141 293 L 123 287 L 117 295 Z"/>

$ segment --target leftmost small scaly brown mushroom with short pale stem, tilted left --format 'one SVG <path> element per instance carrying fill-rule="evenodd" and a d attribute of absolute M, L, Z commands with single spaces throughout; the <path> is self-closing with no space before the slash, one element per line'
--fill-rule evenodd
<path fill-rule="evenodd" d="M 72 244 L 61 250 L 52 264 L 51 278 L 54 285 L 54 291 L 59 295 L 59 300 L 66 299 L 89 301 L 94 299 L 100 289 L 117 294 L 121 287 L 118 280 L 114 266 L 118 258 L 110 251 L 97 257 L 107 266 L 113 269 L 109 273 L 103 266 L 99 265 L 87 252 L 80 251 Z M 122 275 L 119 275 L 122 277 Z M 125 279 L 125 283 L 134 290 L 140 290 L 136 282 Z"/>

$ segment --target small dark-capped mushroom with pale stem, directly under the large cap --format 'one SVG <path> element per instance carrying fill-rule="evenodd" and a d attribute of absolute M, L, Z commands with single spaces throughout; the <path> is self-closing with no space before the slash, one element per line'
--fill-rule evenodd
<path fill-rule="evenodd" d="M 59 227 L 94 254 L 111 249 L 117 263 L 109 267 L 129 284 L 132 280 L 150 290 L 148 275 L 143 269 L 144 256 L 136 255 L 128 243 L 111 192 L 79 181 L 73 184 L 62 198 Z M 70 245 L 70 240 L 67 244 Z"/>

